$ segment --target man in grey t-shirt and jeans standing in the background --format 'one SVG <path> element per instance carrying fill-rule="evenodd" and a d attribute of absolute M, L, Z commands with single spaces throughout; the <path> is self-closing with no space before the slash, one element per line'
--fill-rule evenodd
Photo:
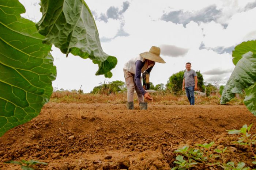
<path fill-rule="evenodd" d="M 197 90 L 197 75 L 195 70 L 191 69 L 191 63 L 186 63 L 187 71 L 184 73 L 182 90 L 186 89 L 186 94 L 190 105 L 195 105 L 194 91 Z"/>

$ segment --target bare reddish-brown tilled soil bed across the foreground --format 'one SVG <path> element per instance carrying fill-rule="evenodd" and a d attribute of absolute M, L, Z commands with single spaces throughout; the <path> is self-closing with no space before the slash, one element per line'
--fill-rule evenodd
<path fill-rule="evenodd" d="M 236 150 L 226 162 L 251 165 L 249 150 L 235 148 L 237 138 L 226 132 L 251 123 L 256 117 L 244 105 L 151 103 L 147 111 L 137 105 L 129 111 L 125 104 L 48 103 L 39 116 L 0 138 L 0 169 L 20 169 L 6 161 L 34 159 L 48 163 L 34 166 L 45 170 L 168 170 L 179 146 L 211 141 Z M 236 155 L 240 150 L 246 154 Z"/>

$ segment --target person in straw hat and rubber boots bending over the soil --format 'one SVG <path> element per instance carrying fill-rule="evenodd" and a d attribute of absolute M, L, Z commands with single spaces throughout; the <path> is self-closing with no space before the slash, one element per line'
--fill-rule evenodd
<path fill-rule="evenodd" d="M 124 64 L 124 78 L 127 86 L 127 109 L 134 108 L 134 89 L 136 90 L 141 110 L 147 109 L 147 103 L 144 102 L 144 97 L 147 100 L 153 99 L 142 87 L 141 73 L 144 71 L 150 73 L 155 62 L 165 63 L 160 57 L 160 48 L 152 46 L 149 52 L 141 53 L 138 57 L 132 58 Z"/>

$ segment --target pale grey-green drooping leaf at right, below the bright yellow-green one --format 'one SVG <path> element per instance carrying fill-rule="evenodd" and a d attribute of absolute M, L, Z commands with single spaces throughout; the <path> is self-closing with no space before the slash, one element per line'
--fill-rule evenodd
<path fill-rule="evenodd" d="M 248 88 L 256 82 L 256 54 L 248 52 L 237 62 L 222 92 L 221 104 L 225 104 L 236 93 Z"/>

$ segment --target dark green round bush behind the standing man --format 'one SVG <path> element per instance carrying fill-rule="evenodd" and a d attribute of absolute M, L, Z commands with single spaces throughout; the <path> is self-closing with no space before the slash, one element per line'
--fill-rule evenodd
<path fill-rule="evenodd" d="M 169 80 L 167 81 L 166 87 L 174 94 L 180 95 L 183 94 L 182 92 L 182 82 L 183 82 L 183 76 L 184 76 L 185 70 L 181 70 L 178 73 L 174 73 L 171 77 L 169 77 Z M 200 71 L 196 71 L 197 74 L 197 88 L 199 91 L 203 91 L 205 89 L 204 86 L 204 79 L 203 75 L 200 73 Z"/>

